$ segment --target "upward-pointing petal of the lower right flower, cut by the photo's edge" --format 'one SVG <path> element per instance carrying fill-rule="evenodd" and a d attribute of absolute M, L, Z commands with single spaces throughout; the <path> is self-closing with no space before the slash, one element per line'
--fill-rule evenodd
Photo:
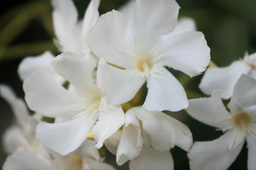
<path fill-rule="evenodd" d="M 237 113 L 237 106 L 249 113 L 256 111 L 256 79 L 245 74 L 237 80 L 230 102 L 231 113 Z"/>

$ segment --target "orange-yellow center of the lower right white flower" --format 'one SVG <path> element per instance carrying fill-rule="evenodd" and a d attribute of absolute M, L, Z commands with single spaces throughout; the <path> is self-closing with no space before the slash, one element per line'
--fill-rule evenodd
<path fill-rule="evenodd" d="M 250 116 L 246 112 L 243 112 L 234 116 L 234 124 L 246 135 L 251 128 L 252 121 Z"/>

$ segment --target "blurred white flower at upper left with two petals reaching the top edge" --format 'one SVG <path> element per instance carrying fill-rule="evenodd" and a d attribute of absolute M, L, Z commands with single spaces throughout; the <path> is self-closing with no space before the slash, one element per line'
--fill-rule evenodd
<path fill-rule="evenodd" d="M 77 21 L 78 13 L 72 0 L 52 0 L 53 26 L 57 37 L 56 44 L 61 52 L 91 50 L 86 39 L 99 18 L 100 0 L 91 0 L 82 21 Z"/>

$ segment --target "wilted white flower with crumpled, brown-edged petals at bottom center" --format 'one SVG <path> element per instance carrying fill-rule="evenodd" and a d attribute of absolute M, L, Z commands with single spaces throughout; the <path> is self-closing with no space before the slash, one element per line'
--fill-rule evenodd
<path fill-rule="evenodd" d="M 114 134 L 105 144 L 116 154 L 118 165 L 130 160 L 130 170 L 173 169 L 169 150 L 177 145 L 189 151 L 193 145 L 188 127 L 162 112 L 134 107 L 125 113 L 125 118 L 122 134 Z"/>

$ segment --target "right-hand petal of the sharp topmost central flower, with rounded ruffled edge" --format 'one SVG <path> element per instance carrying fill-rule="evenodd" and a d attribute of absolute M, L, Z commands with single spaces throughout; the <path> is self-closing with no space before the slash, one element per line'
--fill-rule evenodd
<path fill-rule="evenodd" d="M 205 71 L 210 63 L 210 48 L 201 32 L 185 32 L 162 42 L 168 47 L 159 64 L 182 71 L 190 77 Z"/>

